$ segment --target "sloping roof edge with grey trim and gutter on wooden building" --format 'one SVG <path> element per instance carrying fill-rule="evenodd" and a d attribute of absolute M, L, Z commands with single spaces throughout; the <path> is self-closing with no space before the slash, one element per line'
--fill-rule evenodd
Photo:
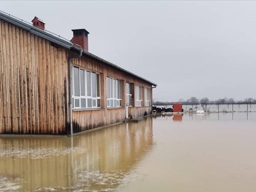
<path fill-rule="evenodd" d="M 140 77 L 139 75 L 136 75 L 135 73 L 129 72 L 128 70 L 125 70 L 113 63 L 110 63 L 109 61 L 106 61 L 105 59 L 102 59 L 94 54 L 91 54 L 88 51 L 85 51 L 83 49 L 81 49 L 81 47 L 78 47 L 76 44 L 73 44 L 72 42 L 70 42 L 70 40 L 67 40 L 66 38 L 61 37 L 60 35 L 56 35 L 55 33 L 52 33 L 50 31 L 47 30 L 41 30 L 37 27 L 34 27 L 31 23 L 28 23 L 26 21 L 24 21 L 23 19 L 19 19 L 18 17 L 15 16 L 11 16 L 10 14 L 7 14 L 3 11 L 0 10 L 0 19 L 3 19 L 9 23 L 12 23 L 20 28 L 23 28 L 27 31 L 30 31 L 30 33 L 33 33 L 35 35 L 38 35 L 39 37 L 45 38 L 51 42 L 54 42 L 55 44 L 58 44 L 62 47 L 65 47 L 67 49 L 71 49 L 71 50 L 77 50 L 77 51 L 81 51 L 82 53 L 86 56 L 90 56 L 92 58 L 97 59 L 98 61 L 102 61 L 105 65 L 111 66 L 113 68 L 116 68 L 119 71 L 122 71 L 124 73 L 128 73 L 129 75 L 132 75 L 133 77 L 137 77 L 138 79 L 144 80 L 148 83 L 150 83 L 153 86 L 157 86 L 157 84 L 144 79 L 143 77 Z M 88 32 L 89 33 L 89 32 Z"/>

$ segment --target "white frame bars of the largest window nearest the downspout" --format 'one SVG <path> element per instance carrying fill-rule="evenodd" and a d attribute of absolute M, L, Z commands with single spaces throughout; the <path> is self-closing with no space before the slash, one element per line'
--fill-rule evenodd
<path fill-rule="evenodd" d="M 79 69 L 79 94 L 80 96 L 75 95 L 75 87 L 74 87 L 74 67 Z M 81 78 L 80 78 L 80 70 L 84 70 L 84 96 L 81 96 Z M 95 83 L 96 83 L 96 97 L 93 97 L 93 86 L 92 86 L 92 75 L 90 75 L 90 87 L 91 87 L 91 96 L 87 96 L 87 72 L 90 74 L 95 73 Z M 101 97 L 100 93 L 97 96 L 97 74 L 99 75 L 99 86 L 100 86 L 100 73 L 86 70 L 84 68 L 80 68 L 79 66 L 72 65 L 72 107 L 73 109 L 86 109 L 86 108 L 101 108 Z M 99 87 L 100 92 L 100 87 Z M 79 106 L 75 106 L 75 99 L 79 99 Z M 81 99 L 85 99 L 86 107 L 81 107 Z M 91 99 L 91 107 L 88 107 L 88 99 Z M 100 106 L 97 106 L 97 100 L 100 99 Z M 93 106 L 93 101 L 95 101 L 96 106 Z"/>

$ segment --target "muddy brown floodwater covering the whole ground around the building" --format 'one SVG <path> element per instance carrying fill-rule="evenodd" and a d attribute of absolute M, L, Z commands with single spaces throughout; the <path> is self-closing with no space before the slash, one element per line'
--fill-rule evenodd
<path fill-rule="evenodd" d="M 255 192 L 256 113 L 154 115 L 74 137 L 0 137 L 0 191 Z"/>

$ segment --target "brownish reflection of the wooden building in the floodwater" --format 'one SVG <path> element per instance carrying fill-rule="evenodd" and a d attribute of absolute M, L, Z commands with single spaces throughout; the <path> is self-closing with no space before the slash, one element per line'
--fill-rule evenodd
<path fill-rule="evenodd" d="M 152 117 L 74 138 L 0 138 L 0 176 L 26 191 L 109 190 L 129 178 L 153 146 Z"/>

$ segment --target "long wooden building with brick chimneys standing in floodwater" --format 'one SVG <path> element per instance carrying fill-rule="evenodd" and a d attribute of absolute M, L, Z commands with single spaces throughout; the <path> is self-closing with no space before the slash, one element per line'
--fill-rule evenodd
<path fill-rule="evenodd" d="M 32 22 L 0 12 L 0 134 L 72 135 L 152 113 L 156 84 L 88 52 L 88 31 L 68 41 Z"/>

